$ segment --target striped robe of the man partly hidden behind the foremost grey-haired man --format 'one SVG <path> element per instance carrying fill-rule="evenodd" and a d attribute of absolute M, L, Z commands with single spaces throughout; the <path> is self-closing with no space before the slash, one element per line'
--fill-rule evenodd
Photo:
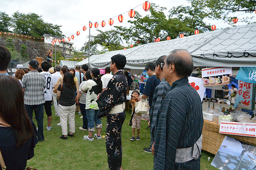
<path fill-rule="evenodd" d="M 170 90 L 171 85 L 163 78 L 154 91 L 153 104 L 151 106 L 152 112 L 150 115 L 150 129 L 153 129 L 161 103 Z"/>

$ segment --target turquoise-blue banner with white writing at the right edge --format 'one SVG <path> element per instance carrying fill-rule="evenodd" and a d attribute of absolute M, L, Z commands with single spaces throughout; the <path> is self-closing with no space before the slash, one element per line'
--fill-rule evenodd
<path fill-rule="evenodd" d="M 236 79 L 248 83 L 256 83 L 256 67 L 240 67 Z"/>

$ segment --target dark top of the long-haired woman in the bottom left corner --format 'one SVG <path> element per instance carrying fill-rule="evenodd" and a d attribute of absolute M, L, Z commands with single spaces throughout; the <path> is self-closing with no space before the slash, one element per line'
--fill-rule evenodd
<path fill-rule="evenodd" d="M 34 136 L 16 149 L 15 130 L 12 127 L 0 127 L 0 150 L 7 170 L 24 170 L 27 160 L 34 156 L 37 142 L 34 132 Z"/>

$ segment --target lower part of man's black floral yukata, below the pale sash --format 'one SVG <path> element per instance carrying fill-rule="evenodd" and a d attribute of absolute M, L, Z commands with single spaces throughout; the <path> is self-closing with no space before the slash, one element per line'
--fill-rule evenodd
<path fill-rule="evenodd" d="M 122 124 L 125 121 L 125 111 L 108 114 L 106 125 L 106 149 L 109 170 L 119 170 L 122 166 Z"/>

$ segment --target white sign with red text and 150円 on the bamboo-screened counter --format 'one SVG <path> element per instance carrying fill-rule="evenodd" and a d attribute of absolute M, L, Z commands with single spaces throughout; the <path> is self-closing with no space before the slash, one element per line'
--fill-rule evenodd
<path fill-rule="evenodd" d="M 256 137 L 256 123 L 221 122 L 219 133 Z"/>

